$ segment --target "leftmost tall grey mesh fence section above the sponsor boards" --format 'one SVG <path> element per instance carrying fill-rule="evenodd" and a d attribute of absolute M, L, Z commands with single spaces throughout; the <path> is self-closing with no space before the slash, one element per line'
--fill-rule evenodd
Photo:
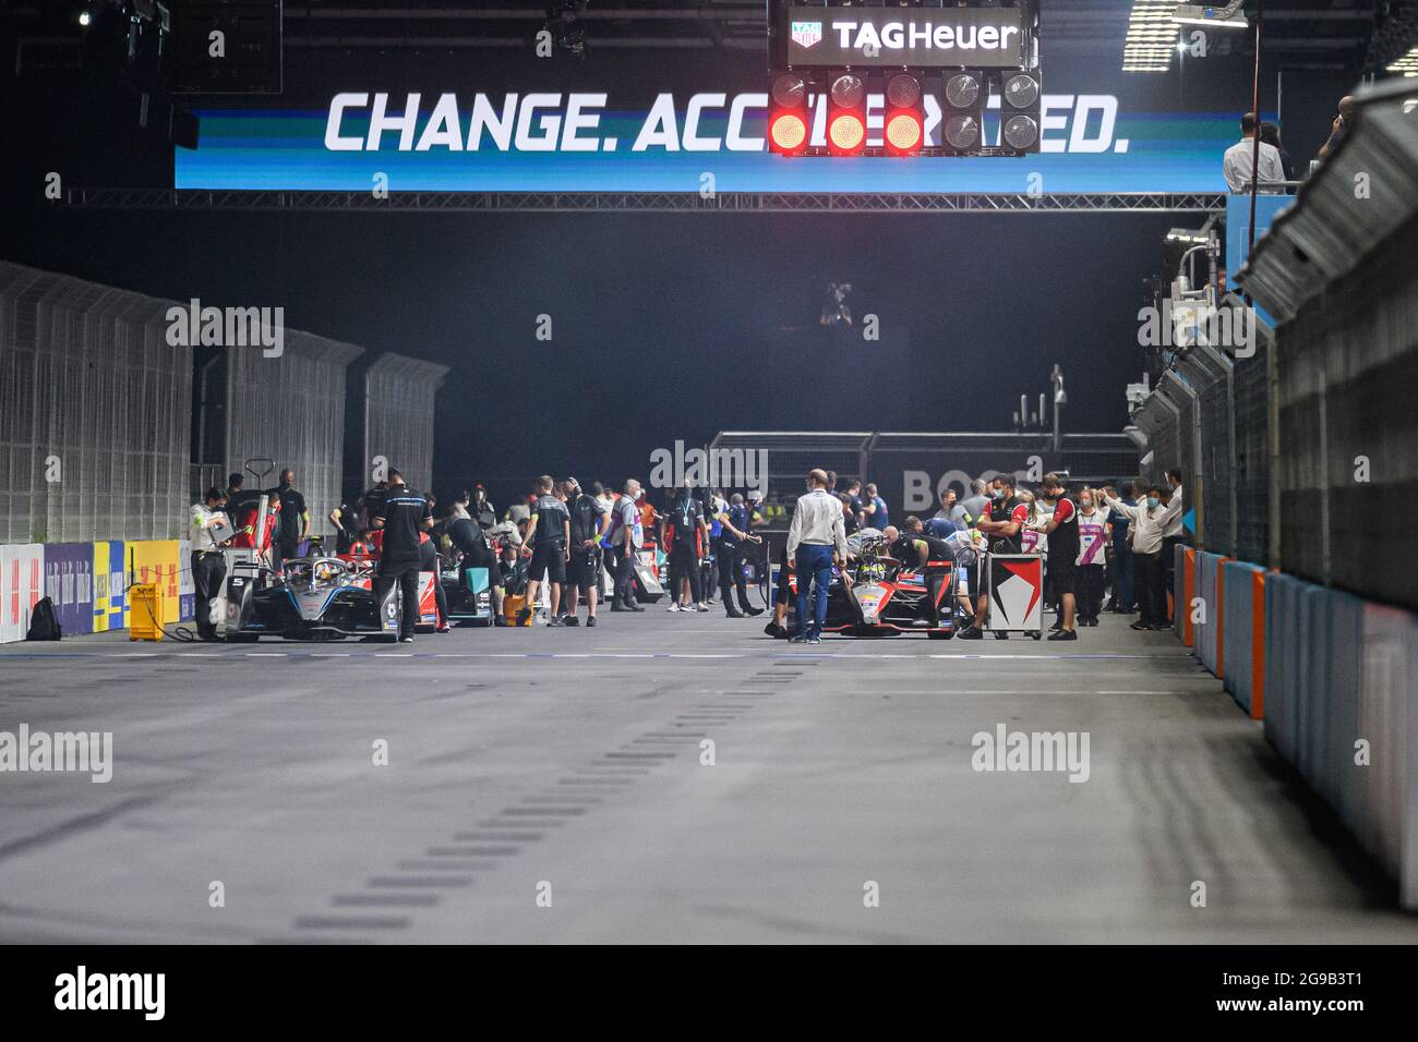
<path fill-rule="evenodd" d="M 0 262 L 0 542 L 182 534 L 191 349 L 170 306 Z"/>

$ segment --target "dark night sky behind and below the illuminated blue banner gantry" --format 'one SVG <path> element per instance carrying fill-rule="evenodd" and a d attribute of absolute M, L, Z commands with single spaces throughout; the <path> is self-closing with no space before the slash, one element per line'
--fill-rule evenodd
<path fill-rule="evenodd" d="M 308 103 L 323 108 L 332 89 L 352 82 L 432 94 L 518 89 L 529 75 L 518 55 L 472 65 L 467 55 L 444 65 L 420 55 L 400 65 L 387 55 L 299 54 L 299 64 L 288 61 L 281 103 L 316 99 Z M 705 62 L 719 62 L 713 78 Z M 546 69 L 536 68 L 552 78 L 542 89 L 607 74 Z M 628 65 L 624 72 L 627 81 L 638 75 Z M 691 88 L 763 79 L 756 55 L 676 55 L 674 74 L 657 74 Z M 21 162 L 7 163 L 10 198 L 38 203 L 34 184 L 50 169 L 88 184 L 170 184 L 170 149 L 135 142 L 86 102 L 74 103 L 91 96 L 77 84 L 11 95 L 4 115 L 13 138 L 0 145 Z M 157 296 L 281 303 L 294 327 L 451 366 L 438 407 L 442 489 L 543 471 L 620 481 L 644 474 L 649 451 L 676 438 L 815 425 L 822 408 L 837 430 L 1004 430 L 1020 393 L 1044 390 L 1055 362 L 1068 377 L 1065 427 L 1116 431 L 1126 418 L 1123 387 L 1143 369 L 1143 279 L 1160 269 L 1166 230 L 1197 220 L 108 213 L 43 204 L 13 215 L 16 234 L 0 238 L 9 259 Z M 859 344 L 862 370 L 889 366 L 909 393 L 871 401 L 855 366 L 813 371 L 797 363 L 822 335 L 815 320 L 830 281 L 849 281 L 854 309 L 881 318 L 883 344 L 876 357 L 876 346 Z M 535 339 L 540 313 L 552 315 L 550 343 Z M 817 401 L 817 411 L 804 413 L 801 401 Z"/>

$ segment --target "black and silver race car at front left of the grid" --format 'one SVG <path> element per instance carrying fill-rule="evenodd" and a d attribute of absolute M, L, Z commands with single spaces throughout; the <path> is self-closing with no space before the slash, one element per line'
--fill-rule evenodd
<path fill-rule="evenodd" d="M 420 573 L 420 625 L 438 621 L 432 584 L 432 573 Z M 369 560 L 289 560 L 284 576 L 262 564 L 238 564 L 227 580 L 225 600 L 228 641 L 398 639 L 398 587 L 376 597 L 374 566 Z"/>

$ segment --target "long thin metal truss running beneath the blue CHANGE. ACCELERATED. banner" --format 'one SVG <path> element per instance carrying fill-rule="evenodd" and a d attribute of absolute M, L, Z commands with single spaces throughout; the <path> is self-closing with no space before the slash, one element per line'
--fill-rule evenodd
<path fill-rule="evenodd" d="M 69 189 L 57 206 L 89 210 L 315 210 L 525 213 L 1214 213 L 1217 191 L 1106 193 L 783 193 L 720 191 L 281 191 Z"/>

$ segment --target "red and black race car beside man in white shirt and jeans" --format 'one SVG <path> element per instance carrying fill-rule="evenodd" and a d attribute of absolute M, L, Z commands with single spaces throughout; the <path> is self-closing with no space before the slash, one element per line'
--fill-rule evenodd
<path fill-rule="evenodd" d="M 854 537 L 848 547 L 855 560 L 847 570 L 832 568 L 827 590 L 827 621 L 822 632 L 844 637 L 896 637 L 926 634 L 949 641 L 956 635 L 963 614 L 956 597 L 957 568 L 950 564 L 936 570 L 927 583 L 925 571 L 908 568 L 889 554 L 879 534 Z M 788 603 L 787 631 L 797 632 L 797 584 L 788 578 L 793 601 Z M 939 605 L 939 625 L 932 624 L 932 597 Z"/>

